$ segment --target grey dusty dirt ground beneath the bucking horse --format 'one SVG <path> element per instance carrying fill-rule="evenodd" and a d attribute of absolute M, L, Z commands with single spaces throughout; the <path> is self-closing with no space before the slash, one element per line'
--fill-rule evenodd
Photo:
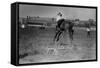
<path fill-rule="evenodd" d="M 89 37 L 85 29 L 74 30 L 72 41 L 66 32 L 55 43 L 54 28 L 19 29 L 19 64 L 96 59 L 96 32 Z"/>

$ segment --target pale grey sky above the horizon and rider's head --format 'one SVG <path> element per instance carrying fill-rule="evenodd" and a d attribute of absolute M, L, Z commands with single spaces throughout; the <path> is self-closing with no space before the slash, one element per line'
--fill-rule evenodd
<path fill-rule="evenodd" d="M 61 12 L 66 19 L 96 19 L 96 9 L 40 5 L 19 6 L 19 17 L 40 16 L 55 18 L 58 12 Z"/>

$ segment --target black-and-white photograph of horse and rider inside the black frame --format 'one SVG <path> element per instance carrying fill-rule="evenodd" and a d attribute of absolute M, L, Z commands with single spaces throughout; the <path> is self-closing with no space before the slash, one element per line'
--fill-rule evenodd
<path fill-rule="evenodd" d="M 19 64 L 96 60 L 96 9 L 19 4 Z"/>

